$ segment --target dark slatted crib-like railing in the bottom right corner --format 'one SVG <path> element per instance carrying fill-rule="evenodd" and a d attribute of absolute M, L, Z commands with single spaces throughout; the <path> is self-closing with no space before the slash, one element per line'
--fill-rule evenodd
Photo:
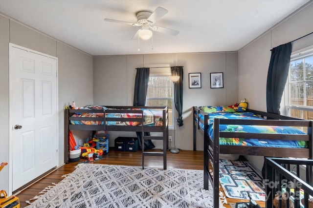
<path fill-rule="evenodd" d="M 265 167 L 267 208 L 313 206 L 313 160 L 267 157 Z"/>

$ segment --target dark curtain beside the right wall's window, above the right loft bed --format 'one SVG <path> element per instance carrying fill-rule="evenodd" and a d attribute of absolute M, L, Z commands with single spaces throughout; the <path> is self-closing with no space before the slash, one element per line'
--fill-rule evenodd
<path fill-rule="evenodd" d="M 271 51 L 266 90 L 267 111 L 280 114 L 280 102 L 289 72 L 291 42 L 279 45 Z"/>

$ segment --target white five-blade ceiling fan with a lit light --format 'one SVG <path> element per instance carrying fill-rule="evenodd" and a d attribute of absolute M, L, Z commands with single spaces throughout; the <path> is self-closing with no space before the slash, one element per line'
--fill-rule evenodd
<path fill-rule="evenodd" d="M 137 22 L 128 22 L 128 21 L 119 21 L 119 20 L 112 20 L 112 19 L 104 19 L 104 21 L 111 21 L 123 24 L 129 24 L 133 26 L 141 27 L 133 36 L 132 39 L 138 38 L 138 36 L 143 40 L 148 40 L 152 37 L 152 31 L 166 33 L 169 35 L 176 36 L 179 34 L 179 31 L 168 29 L 165 27 L 154 26 L 153 24 L 161 19 L 164 15 L 166 15 L 168 11 L 162 7 L 157 7 L 156 10 L 151 13 L 147 11 L 141 11 L 136 14 Z"/>

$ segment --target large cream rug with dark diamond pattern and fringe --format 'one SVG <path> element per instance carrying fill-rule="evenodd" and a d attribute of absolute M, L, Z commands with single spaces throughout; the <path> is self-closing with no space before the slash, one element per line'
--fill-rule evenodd
<path fill-rule="evenodd" d="M 203 189 L 203 170 L 79 164 L 42 193 L 27 208 L 214 207 L 212 188 Z"/>

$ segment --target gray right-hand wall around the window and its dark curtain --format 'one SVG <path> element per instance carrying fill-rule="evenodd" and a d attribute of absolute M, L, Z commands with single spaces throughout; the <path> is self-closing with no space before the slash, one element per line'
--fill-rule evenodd
<path fill-rule="evenodd" d="M 291 42 L 312 32 L 313 4 L 295 13 L 287 20 L 275 25 L 268 32 L 251 42 L 238 53 L 238 94 L 239 99 L 246 98 L 251 109 L 266 111 L 266 84 L 270 49 Z M 313 45 L 313 35 L 292 42 L 292 50 Z M 284 110 L 285 96 L 282 98 L 281 114 Z M 247 156 L 259 169 L 263 157 Z"/>

